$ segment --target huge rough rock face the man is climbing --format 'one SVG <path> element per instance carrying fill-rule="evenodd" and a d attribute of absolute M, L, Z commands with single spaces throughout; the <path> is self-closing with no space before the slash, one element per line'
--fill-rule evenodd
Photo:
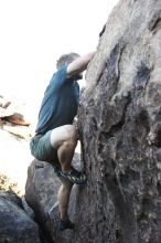
<path fill-rule="evenodd" d="M 79 108 L 77 242 L 161 242 L 160 40 L 161 1 L 122 0 L 106 24 Z"/>

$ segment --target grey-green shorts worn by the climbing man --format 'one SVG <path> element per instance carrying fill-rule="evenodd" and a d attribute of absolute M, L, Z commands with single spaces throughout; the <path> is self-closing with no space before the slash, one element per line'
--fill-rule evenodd
<path fill-rule="evenodd" d="M 51 145 L 51 133 L 45 135 L 35 135 L 30 141 L 31 154 L 41 161 L 47 161 L 53 166 L 60 166 L 57 150 Z"/>

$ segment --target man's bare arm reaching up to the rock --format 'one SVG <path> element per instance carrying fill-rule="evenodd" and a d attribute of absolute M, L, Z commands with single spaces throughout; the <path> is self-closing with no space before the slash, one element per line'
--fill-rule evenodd
<path fill-rule="evenodd" d="M 85 71 L 87 68 L 89 61 L 94 56 L 94 54 L 95 52 L 90 52 L 86 55 L 83 55 L 74 60 L 72 63 L 69 63 L 67 66 L 67 77 L 72 77 Z"/>

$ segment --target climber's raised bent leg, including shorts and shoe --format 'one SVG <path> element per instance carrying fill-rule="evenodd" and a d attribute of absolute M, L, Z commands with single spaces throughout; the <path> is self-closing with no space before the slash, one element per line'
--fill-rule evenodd
<path fill-rule="evenodd" d="M 56 170 L 61 166 L 60 176 L 72 183 L 83 184 L 87 180 L 86 176 L 72 167 L 77 139 L 76 128 L 73 125 L 64 125 L 45 135 L 36 134 L 31 139 L 30 148 L 36 159 L 52 163 Z"/>

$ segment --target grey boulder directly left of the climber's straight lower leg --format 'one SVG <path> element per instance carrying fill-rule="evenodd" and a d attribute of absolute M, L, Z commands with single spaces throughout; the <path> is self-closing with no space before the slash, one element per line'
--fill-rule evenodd
<path fill-rule="evenodd" d="M 34 210 L 36 221 L 43 229 L 49 242 L 53 242 L 52 239 L 55 239 L 60 184 L 60 180 L 50 163 L 36 159 L 32 161 L 28 171 L 25 199 Z"/>

